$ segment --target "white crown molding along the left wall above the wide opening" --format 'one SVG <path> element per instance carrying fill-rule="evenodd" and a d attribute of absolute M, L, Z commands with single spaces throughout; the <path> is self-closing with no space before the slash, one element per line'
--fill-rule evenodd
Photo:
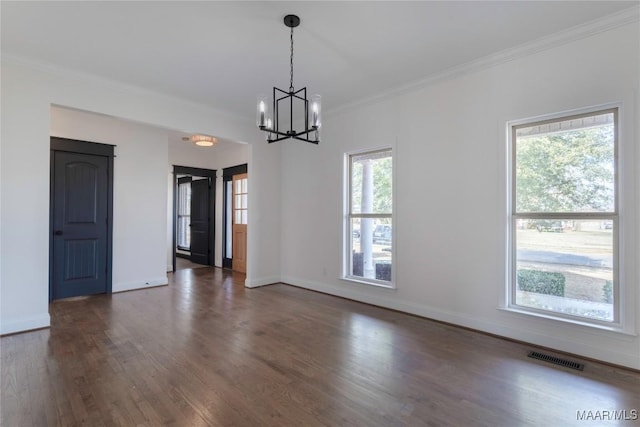
<path fill-rule="evenodd" d="M 19 67 L 29 68 L 29 69 L 41 71 L 46 74 L 52 74 L 52 75 L 56 75 L 63 78 L 72 78 L 85 83 L 95 84 L 113 91 L 119 91 L 127 94 L 136 93 L 141 96 L 162 97 L 167 99 L 168 101 L 190 105 L 192 107 L 199 108 L 199 109 L 206 109 L 208 111 L 215 113 L 216 115 L 220 115 L 222 117 L 226 117 L 229 119 L 247 121 L 247 117 L 239 114 L 234 114 L 227 110 L 221 110 L 221 109 L 212 107 L 210 105 L 195 102 L 186 98 L 180 98 L 165 92 L 154 91 L 154 90 L 146 89 L 140 86 L 123 83 L 118 80 L 108 79 L 102 76 L 98 76 L 96 74 L 91 74 L 83 71 L 74 70 L 71 68 L 61 67 L 59 65 L 55 65 L 46 61 L 40 61 L 33 58 L 26 58 L 23 56 L 15 55 L 12 53 L 2 52 L 1 62 L 2 64 L 6 63 L 8 65 L 15 65 Z"/>

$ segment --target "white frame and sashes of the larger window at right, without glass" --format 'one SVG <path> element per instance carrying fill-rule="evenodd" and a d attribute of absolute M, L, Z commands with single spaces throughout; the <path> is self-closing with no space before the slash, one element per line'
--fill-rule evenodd
<path fill-rule="evenodd" d="M 572 110 L 548 114 L 535 118 L 515 120 L 507 122 L 507 280 L 505 303 L 502 308 L 527 315 L 543 317 L 547 319 L 559 320 L 568 323 L 580 324 L 605 330 L 617 332 L 633 333 L 625 327 L 624 307 L 625 300 L 624 286 L 621 284 L 620 266 L 620 237 L 622 233 L 622 221 L 620 221 L 620 209 L 622 202 L 620 199 L 620 104 L 608 104 L 596 107 L 589 107 L 580 110 Z M 518 212 L 516 207 L 516 131 L 519 128 L 544 125 L 560 121 L 579 119 L 583 117 L 596 116 L 601 114 L 613 114 L 613 174 L 614 174 L 614 203 L 611 212 Z M 521 219 L 533 220 L 610 220 L 612 221 L 612 280 L 613 280 L 613 320 L 600 320 L 583 316 L 570 315 L 552 310 L 544 310 L 516 304 L 517 293 L 517 224 Z"/>

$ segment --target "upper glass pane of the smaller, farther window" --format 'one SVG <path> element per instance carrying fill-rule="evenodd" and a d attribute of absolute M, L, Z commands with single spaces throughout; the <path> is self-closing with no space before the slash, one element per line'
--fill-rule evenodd
<path fill-rule="evenodd" d="M 392 212 L 391 151 L 351 156 L 351 213 Z"/>

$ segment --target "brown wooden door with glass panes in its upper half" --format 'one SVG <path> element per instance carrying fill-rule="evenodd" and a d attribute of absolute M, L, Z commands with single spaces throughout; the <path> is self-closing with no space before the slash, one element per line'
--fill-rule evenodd
<path fill-rule="evenodd" d="M 231 268 L 241 273 L 247 272 L 248 181 L 246 173 L 233 176 L 233 257 Z"/>

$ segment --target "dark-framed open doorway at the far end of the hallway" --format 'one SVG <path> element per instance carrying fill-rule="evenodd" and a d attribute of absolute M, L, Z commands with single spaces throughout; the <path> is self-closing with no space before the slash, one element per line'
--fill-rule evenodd
<path fill-rule="evenodd" d="M 173 175 L 173 271 L 214 265 L 216 171 L 174 165 Z"/>

